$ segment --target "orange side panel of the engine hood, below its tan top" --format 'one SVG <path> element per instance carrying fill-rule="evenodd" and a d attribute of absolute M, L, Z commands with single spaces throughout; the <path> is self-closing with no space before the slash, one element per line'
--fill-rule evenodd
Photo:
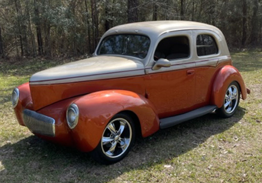
<path fill-rule="evenodd" d="M 73 96 L 108 89 L 123 89 L 144 95 L 144 79 L 143 76 L 134 76 L 75 83 L 30 85 L 35 110 Z"/>

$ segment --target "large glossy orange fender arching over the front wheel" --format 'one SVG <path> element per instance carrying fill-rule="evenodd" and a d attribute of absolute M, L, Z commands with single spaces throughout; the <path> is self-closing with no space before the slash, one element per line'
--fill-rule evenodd
<path fill-rule="evenodd" d="M 156 110 L 144 96 L 126 90 L 103 90 L 84 95 L 74 101 L 79 108 L 79 121 L 72 137 L 82 151 L 91 151 L 99 143 L 110 119 L 121 111 L 134 112 L 143 137 L 159 130 Z"/>

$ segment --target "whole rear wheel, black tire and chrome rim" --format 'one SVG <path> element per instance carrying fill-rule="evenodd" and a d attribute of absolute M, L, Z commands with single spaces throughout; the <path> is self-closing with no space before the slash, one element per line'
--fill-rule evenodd
<path fill-rule="evenodd" d="M 240 99 L 240 88 L 236 81 L 233 81 L 228 86 L 225 98 L 223 100 L 223 106 L 217 109 L 217 114 L 223 118 L 229 118 L 236 112 Z"/>

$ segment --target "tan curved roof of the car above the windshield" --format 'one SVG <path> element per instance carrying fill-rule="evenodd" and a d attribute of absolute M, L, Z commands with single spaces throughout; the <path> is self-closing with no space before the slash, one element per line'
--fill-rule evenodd
<path fill-rule="evenodd" d="M 112 33 L 140 33 L 148 36 L 160 36 L 166 32 L 179 31 L 179 30 L 194 30 L 204 29 L 211 30 L 217 34 L 222 32 L 215 26 L 193 22 L 193 21 L 181 21 L 181 20 L 164 20 L 164 21 L 146 21 L 146 22 L 135 22 L 129 24 L 123 24 L 111 28 L 105 33 L 105 36 Z"/>

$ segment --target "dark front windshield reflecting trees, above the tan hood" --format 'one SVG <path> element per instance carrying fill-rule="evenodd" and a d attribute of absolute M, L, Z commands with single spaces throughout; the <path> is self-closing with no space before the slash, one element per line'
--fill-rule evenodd
<path fill-rule="evenodd" d="M 134 34 L 111 35 L 103 39 L 97 50 L 97 55 L 129 55 L 143 59 L 148 53 L 149 45 L 150 39 L 147 36 Z"/>

